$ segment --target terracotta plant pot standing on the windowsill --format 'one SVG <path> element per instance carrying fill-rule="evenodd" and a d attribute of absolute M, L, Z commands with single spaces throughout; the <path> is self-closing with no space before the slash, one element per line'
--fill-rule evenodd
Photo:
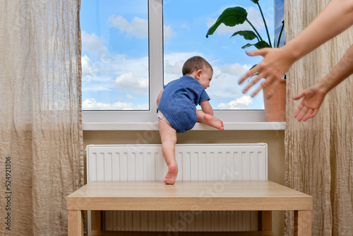
<path fill-rule="evenodd" d="M 265 105 L 266 122 L 285 122 L 286 121 L 286 80 L 282 79 L 275 94 L 266 99 L 267 88 L 263 90 L 263 103 Z"/>

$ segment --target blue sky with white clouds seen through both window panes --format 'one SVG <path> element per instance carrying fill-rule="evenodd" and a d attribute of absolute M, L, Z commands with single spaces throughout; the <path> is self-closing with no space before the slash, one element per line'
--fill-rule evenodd
<path fill-rule="evenodd" d="M 82 0 L 83 110 L 148 110 L 148 6 L 146 0 Z M 181 76 L 186 59 L 201 55 L 213 65 L 213 109 L 263 109 L 262 95 L 251 99 L 237 81 L 261 57 L 245 54 L 237 30 L 221 25 L 205 37 L 225 8 L 242 6 L 265 38 L 258 6 L 250 0 L 164 0 L 164 84 Z M 259 1 L 274 38 L 273 0 Z M 266 37 L 267 38 L 267 37 Z M 252 43 L 255 43 L 253 40 Z M 255 49 L 249 47 L 249 50 Z"/>

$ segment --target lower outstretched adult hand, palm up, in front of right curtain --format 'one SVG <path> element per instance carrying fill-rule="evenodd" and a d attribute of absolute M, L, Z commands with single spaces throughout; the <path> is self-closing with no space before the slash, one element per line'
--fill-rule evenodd
<path fill-rule="evenodd" d="M 307 119 L 315 117 L 316 114 L 318 114 L 318 109 L 321 107 L 325 95 L 325 90 L 318 88 L 317 85 L 313 85 L 301 92 L 293 98 L 293 100 L 303 98 L 303 100 L 301 100 L 301 104 L 294 112 L 294 117 L 298 117 L 299 122 L 301 120 L 305 122 Z"/>

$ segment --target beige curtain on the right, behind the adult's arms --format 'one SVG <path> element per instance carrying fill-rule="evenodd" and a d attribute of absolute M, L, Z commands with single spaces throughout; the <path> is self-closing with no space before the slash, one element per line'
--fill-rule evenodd
<path fill-rule="evenodd" d="M 286 40 L 304 30 L 328 1 L 285 1 Z M 350 28 L 287 74 L 286 184 L 313 196 L 313 235 L 318 236 L 353 233 L 353 78 L 332 90 L 308 122 L 294 119 L 299 102 L 292 98 L 323 78 L 352 44 Z M 292 220 L 286 213 L 285 235 L 293 235 Z"/>

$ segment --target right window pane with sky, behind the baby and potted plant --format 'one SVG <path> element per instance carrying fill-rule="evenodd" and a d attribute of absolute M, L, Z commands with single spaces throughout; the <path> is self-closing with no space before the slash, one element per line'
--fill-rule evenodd
<path fill-rule="evenodd" d="M 273 44 L 273 0 L 261 0 L 259 3 Z M 247 18 L 263 40 L 268 41 L 258 6 L 252 1 L 238 1 L 234 4 L 233 0 L 169 0 L 163 1 L 163 4 L 164 84 L 181 76 L 181 67 L 186 59 L 200 55 L 213 66 L 213 80 L 207 92 L 214 110 L 262 110 L 262 93 L 251 98 L 251 91 L 243 95 L 241 91 L 244 85 L 238 85 L 239 78 L 262 59 L 246 56 L 246 50 L 256 47 L 241 47 L 247 43 L 255 44 L 257 40 L 244 40 L 239 35 L 230 38 L 238 30 L 252 30 L 249 23 L 235 27 L 222 24 L 213 35 L 205 37 L 208 28 L 215 23 L 222 11 L 241 6 L 246 9 Z"/>

